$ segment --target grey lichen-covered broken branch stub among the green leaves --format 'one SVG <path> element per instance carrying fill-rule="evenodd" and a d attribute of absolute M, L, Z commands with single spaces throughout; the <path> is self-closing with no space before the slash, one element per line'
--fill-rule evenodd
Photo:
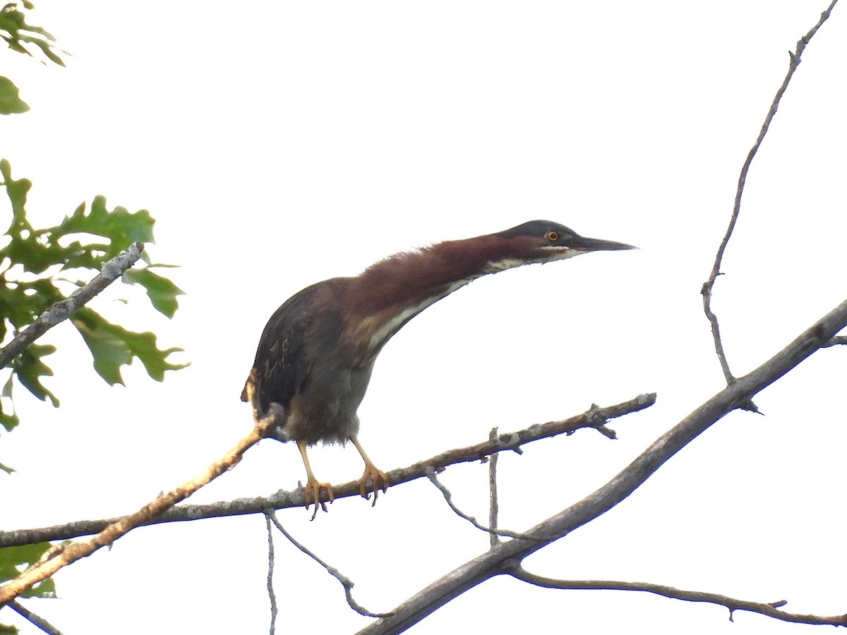
<path fill-rule="evenodd" d="M 0 351 L 0 368 L 8 366 L 27 346 L 47 333 L 49 329 L 53 329 L 58 323 L 68 319 L 71 313 L 90 301 L 91 298 L 108 287 L 109 284 L 119 279 L 122 273 L 132 267 L 141 258 L 141 251 L 144 251 L 144 244 L 136 242 L 128 250 L 124 251 L 124 253 L 113 257 L 107 262 L 103 262 L 101 272 L 97 273 L 97 276 L 90 283 L 75 290 L 64 300 L 56 302 L 56 304 L 38 316 L 35 322 L 17 334 L 14 340 L 3 347 L 3 350 Z"/>

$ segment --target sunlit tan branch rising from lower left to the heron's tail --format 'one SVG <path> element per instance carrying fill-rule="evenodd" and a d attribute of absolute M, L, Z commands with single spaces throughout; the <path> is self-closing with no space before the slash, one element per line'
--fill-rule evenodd
<path fill-rule="evenodd" d="M 206 485 L 214 478 L 218 478 L 231 467 L 234 467 L 238 461 L 241 461 L 241 456 L 244 452 L 260 439 L 263 439 L 267 435 L 268 430 L 276 422 L 278 422 L 278 418 L 275 415 L 265 417 L 263 420 L 257 422 L 256 428 L 253 428 L 251 433 L 235 444 L 235 447 L 227 452 L 223 458 L 215 461 L 199 477 L 192 478 L 177 489 L 171 490 L 168 494 L 160 494 L 156 500 L 144 505 L 139 511 L 109 524 L 108 527 L 105 527 L 94 538 L 84 543 L 64 545 L 61 549 L 56 549 L 52 557 L 40 562 L 37 566 L 30 566 L 29 569 L 14 578 L 14 580 L 0 587 L 0 606 L 18 597 L 19 594 L 22 594 L 34 584 L 52 576 L 53 573 L 58 572 L 62 567 L 93 554 L 101 547 L 111 545 L 115 540 L 125 535 L 125 533 L 150 521 L 175 503 L 180 502 L 180 500 L 185 500 L 188 496 L 191 496 L 197 489 L 202 488 L 203 485 Z"/>

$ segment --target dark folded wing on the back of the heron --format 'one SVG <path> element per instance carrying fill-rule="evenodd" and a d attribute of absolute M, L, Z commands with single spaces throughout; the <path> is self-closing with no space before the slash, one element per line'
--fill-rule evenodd
<path fill-rule="evenodd" d="M 313 284 L 292 295 L 270 317 L 262 332 L 250 376 L 241 392 L 241 400 L 257 398 L 259 414 L 272 401 L 288 408 L 307 378 L 306 334 L 314 320 L 314 300 L 320 284 Z"/>

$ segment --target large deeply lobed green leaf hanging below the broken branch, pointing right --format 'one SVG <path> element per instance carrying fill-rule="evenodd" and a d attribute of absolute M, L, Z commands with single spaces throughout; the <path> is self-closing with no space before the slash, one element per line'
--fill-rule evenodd
<path fill-rule="evenodd" d="M 80 307 L 70 319 L 94 357 L 95 370 L 110 385 L 124 384 L 120 367 L 131 364 L 133 357 L 138 357 L 147 369 L 147 374 L 159 382 L 164 380 L 166 370 L 179 370 L 188 366 L 167 361 L 171 353 L 182 351 L 181 348 L 160 351 L 156 335 L 149 332 L 136 333 L 109 323 L 87 306 Z"/>

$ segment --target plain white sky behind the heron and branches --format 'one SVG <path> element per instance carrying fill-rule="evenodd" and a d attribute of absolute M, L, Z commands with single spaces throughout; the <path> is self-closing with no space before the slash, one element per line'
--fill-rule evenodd
<path fill-rule="evenodd" d="M 514 530 L 590 494 L 722 388 L 700 304 L 739 168 L 826 0 L 322 2 L 245 5 L 42 0 L 32 21 L 68 68 L 11 53 L 32 111 L 4 118 L 3 156 L 55 224 L 97 194 L 157 218 L 158 262 L 188 295 L 168 323 L 141 303 L 93 305 L 192 366 L 156 384 L 141 364 L 109 389 L 64 325 L 47 381 L 19 389 L 3 435 L 4 528 L 134 511 L 194 476 L 252 425 L 238 396 L 270 313 L 303 286 L 437 240 L 551 218 L 639 251 L 480 280 L 410 323 L 380 356 L 361 439 L 385 470 L 535 422 L 656 391 L 618 420 L 501 461 Z M 716 287 L 737 375 L 844 299 L 847 15 L 803 57 L 748 179 Z M 821 351 L 596 522 L 526 561 L 553 577 L 671 584 L 788 610 L 844 613 L 845 351 Z M 352 447 L 313 450 L 318 477 L 357 478 Z M 192 501 L 291 489 L 292 444 L 265 441 Z M 487 468 L 453 467 L 457 505 L 484 518 Z M 390 610 L 487 549 L 422 481 L 371 509 L 341 500 L 280 519 Z M 266 632 L 264 520 L 130 533 L 30 601 L 67 634 Z M 278 632 L 370 620 L 277 540 Z M 8 610 L 0 621 L 14 621 Z M 21 624 L 20 621 L 14 623 Z M 23 624 L 21 624 L 23 626 Z M 553 625 L 556 625 L 555 627 Z M 484 583 L 414 633 L 790 632 L 812 627 L 643 594 Z M 28 629 L 28 630 L 27 630 Z M 814 629 L 817 632 L 818 629 Z M 24 632 L 35 632 L 24 627 Z"/>

